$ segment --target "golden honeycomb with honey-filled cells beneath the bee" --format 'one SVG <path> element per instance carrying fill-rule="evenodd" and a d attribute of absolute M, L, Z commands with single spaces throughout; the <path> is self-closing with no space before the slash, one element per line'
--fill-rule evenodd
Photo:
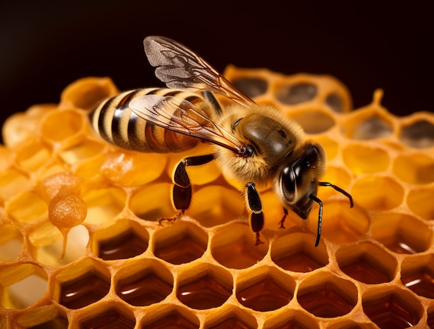
<path fill-rule="evenodd" d="M 214 163 L 189 168 L 175 224 L 171 175 L 186 155 L 109 145 L 87 113 L 119 91 L 83 78 L 58 105 L 8 118 L 0 146 L 0 328 L 434 328 L 434 115 L 351 111 L 326 75 L 229 66 L 257 103 L 298 121 L 327 153 L 322 238 L 261 193 L 254 245 L 239 191 Z M 223 100 L 222 100 L 223 101 Z"/>

